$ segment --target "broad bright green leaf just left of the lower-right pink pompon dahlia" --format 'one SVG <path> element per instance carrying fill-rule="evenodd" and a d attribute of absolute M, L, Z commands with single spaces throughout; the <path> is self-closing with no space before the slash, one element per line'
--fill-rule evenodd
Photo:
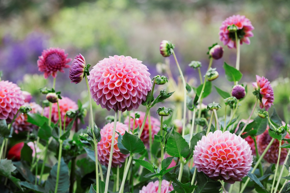
<path fill-rule="evenodd" d="M 175 130 L 167 140 L 166 151 L 171 156 L 186 157 L 189 154 L 189 145 Z"/>

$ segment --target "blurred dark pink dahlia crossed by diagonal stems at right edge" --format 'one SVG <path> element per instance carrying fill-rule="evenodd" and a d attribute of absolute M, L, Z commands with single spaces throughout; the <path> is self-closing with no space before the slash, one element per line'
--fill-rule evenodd
<path fill-rule="evenodd" d="M 264 152 L 268 144 L 270 143 L 272 137 L 269 135 L 269 126 L 267 126 L 267 129 L 264 133 L 257 136 L 257 146 L 258 146 L 258 152 L 260 155 Z M 287 133 L 286 137 L 287 139 L 290 138 L 290 135 Z M 284 144 L 284 141 L 282 141 L 281 145 Z M 285 158 L 287 157 L 287 148 L 281 148 L 281 155 L 280 155 L 280 164 L 283 164 L 285 161 Z M 279 141 L 278 139 L 275 139 L 273 144 L 270 146 L 269 150 L 266 152 L 264 159 L 269 163 L 277 163 L 278 161 L 278 152 L 279 152 Z"/>

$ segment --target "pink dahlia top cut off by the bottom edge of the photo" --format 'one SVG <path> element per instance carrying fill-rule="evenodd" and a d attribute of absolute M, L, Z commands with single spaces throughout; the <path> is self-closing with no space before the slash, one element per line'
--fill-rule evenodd
<path fill-rule="evenodd" d="M 157 193 L 158 192 L 158 180 L 155 182 L 149 182 L 147 186 L 143 186 L 142 190 L 139 190 L 139 193 Z M 173 190 L 172 183 L 170 183 L 167 180 L 162 180 L 161 182 L 161 193 L 168 193 Z"/>

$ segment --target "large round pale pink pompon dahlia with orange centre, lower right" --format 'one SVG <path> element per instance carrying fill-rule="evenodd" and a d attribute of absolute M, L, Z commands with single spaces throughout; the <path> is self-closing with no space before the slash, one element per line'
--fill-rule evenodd
<path fill-rule="evenodd" d="M 198 172 L 231 184 L 247 176 L 252 162 L 253 155 L 247 141 L 229 131 L 209 132 L 207 137 L 202 136 L 193 151 L 193 163 Z"/>

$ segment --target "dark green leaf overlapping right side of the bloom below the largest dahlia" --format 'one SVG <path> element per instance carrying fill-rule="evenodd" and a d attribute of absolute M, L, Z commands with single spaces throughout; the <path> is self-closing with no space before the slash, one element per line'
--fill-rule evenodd
<path fill-rule="evenodd" d="M 123 146 L 129 150 L 131 153 L 140 153 L 144 150 L 145 146 L 141 139 L 125 131 L 125 134 L 122 137 L 121 143 Z"/>

